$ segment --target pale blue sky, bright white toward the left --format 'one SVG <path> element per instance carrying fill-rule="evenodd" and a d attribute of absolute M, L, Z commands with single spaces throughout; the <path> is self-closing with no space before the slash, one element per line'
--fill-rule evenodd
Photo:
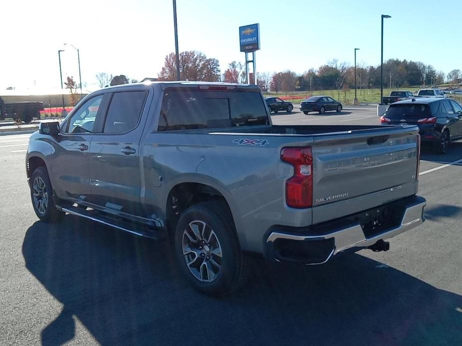
<path fill-rule="evenodd" d="M 435 5 L 438 3 L 439 5 Z M 334 58 L 380 63 L 380 16 L 385 20 L 384 60 L 431 63 L 448 73 L 462 69 L 462 1 L 177 0 L 179 48 L 220 61 L 222 72 L 239 52 L 238 27 L 260 23 L 260 72 L 303 73 Z M 7 14 L 7 15 L 5 15 Z M 0 89 L 59 87 L 57 50 L 80 49 L 82 80 L 97 72 L 142 79 L 157 76 L 174 51 L 171 0 L 41 0 L 2 4 Z M 78 76 L 76 52 L 62 53 L 63 75 Z"/>

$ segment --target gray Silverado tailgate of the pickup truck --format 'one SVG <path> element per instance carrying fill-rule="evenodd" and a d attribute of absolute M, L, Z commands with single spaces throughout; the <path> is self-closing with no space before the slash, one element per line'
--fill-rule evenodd
<path fill-rule="evenodd" d="M 360 200 L 374 207 L 414 194 L 418 132 L 397 126 L 314 136 L 313 222 L 323 221 L 326 210 L 333 219 L 367 209 Z"/>

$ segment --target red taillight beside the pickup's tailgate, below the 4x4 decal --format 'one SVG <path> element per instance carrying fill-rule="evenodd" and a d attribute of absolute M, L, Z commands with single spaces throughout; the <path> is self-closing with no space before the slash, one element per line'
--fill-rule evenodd
<path fill-rule="evenodd" d="M 281 161 L 294 167 L 286 181 L 286 203 L 292 208 L 313 205 L 313 155 L 311 147 L 288 147 L 281 150 Z"/>

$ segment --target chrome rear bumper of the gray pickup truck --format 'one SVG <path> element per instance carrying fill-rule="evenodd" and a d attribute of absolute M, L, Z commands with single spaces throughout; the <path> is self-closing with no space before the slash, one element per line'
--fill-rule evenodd
<path fill-rule="evenodd" d="M 363 227 L 359 223 L 327 234 L 303 235 L 293 232 L 272 231 L 266 239 L 266 249 L 268 250 L 266 255 L 276 261 L 290 261 L 287 256 L 278 255 L 276 243 L 278 241 L 286 241 L 286 244 L 289 244 L 285 245 L 286 252 L 290 252 L 290 247 L 294 246 L 294 241 L 296 241 L 300 242 L 296 245 L 298 248 L 301 248 L 298 245 L 302 245 L 302 243 L 306 244 L 308 246 L 308 252 L 316 249 L 317 247 L 323 246 L 325 249 L 321 250 L 316 256 L 312 257 L 313 260 L 305 261 L 304 263 L 306 265 L 323 264 L 339 252 L 351 248 L 357 248 L 358 250 L 367 248 L 381 239 L 385 240 L 392 238 L 422 224 L 425 221 L 423 212 L 426 204 L 427 201 L 425 198 L 416 197 L 412 203 L 405 206 L 405 211 L 399 226 L 383 230 L 370 236 L 365 234 Z M 300 252 L 300 250 L 298 250 L 298 252 Z M 307 258 L 310 257 L 309 255 L 310 254 L 307 253 Z M 300 263 L 300 261 L 295 262 Z"/>

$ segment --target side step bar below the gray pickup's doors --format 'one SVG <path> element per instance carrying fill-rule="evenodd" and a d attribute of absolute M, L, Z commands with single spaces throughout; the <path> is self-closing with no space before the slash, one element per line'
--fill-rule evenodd
<path fill-rule="evenodd" d="M 83 208 L 68 205 L 56 205 L 56 208 L 68 214 L 84 217 L 88 220 L 96 221 L 104 225 L 111 226 L 122 231 L 138 235 L 140 237 L 146 237 L 151 239 L 165 239 L 167 237 L 167 232 L 164 229 L 143 227 L 142 224 L 119 220 L 109 215 L 102 214 L 101 212 L 98 212 L 96 210 L 86 210 Z"/>

